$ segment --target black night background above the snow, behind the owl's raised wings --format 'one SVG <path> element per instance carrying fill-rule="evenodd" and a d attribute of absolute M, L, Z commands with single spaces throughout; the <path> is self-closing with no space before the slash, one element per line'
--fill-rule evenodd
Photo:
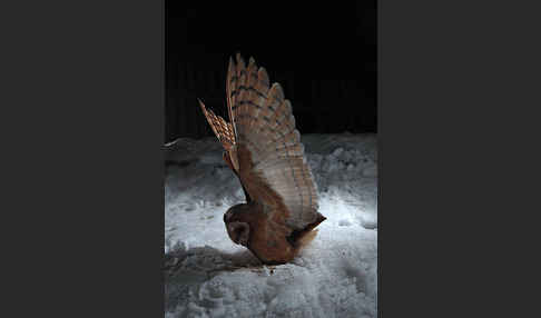
<path fill-rule="evenodd" d="M 376 2 L 292 3 L 166 0 L 165 141 L 212 135 L 197 98 L 226 115 L 236 52 L 283 86 L 302 133 L 377 132 Z"/>

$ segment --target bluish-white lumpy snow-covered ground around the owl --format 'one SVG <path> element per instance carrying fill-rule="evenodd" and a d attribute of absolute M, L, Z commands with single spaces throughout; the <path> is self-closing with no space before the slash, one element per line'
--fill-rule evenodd
<path fill-rule="evenodd" d="M 291 264 L 262 266 L 229 240 L 224 212 L 244 201 L 214 137 L 166 150 L 166 317 L 376 317 L 375 135 L 305 135 L 327 217 Z"/>

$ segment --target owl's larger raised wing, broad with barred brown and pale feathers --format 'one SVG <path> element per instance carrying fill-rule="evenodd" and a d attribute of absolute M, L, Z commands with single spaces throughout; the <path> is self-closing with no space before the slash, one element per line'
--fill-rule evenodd
<path fill-rule="evenodd" d="M 288 100 L 278 83 L 269 87 L 264 68 L 253 58 L 248 66 L 237 53 L 229 60 L 227 92 L 236 131 L 239 177 L 249 196 L 268 213 L 283 211 L 292 230 L 315 227 L 325 218 L 317 212 L 316 183 L 304 157 L 301 135 Z"/>

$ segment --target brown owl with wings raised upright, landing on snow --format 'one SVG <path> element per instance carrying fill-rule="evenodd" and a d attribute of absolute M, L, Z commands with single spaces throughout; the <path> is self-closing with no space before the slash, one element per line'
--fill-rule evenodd
<path fill-rule="evenodd" d="M 229 122 L 198 101 L 246 196 L 225 212 L 227 233 L 263 264 L 288 262 L 326 219 L 291 102 L 263 67 L 253 58 L 246 66 L 239 53 L 236 62 L 229 58 L 226 93 Z"/>

